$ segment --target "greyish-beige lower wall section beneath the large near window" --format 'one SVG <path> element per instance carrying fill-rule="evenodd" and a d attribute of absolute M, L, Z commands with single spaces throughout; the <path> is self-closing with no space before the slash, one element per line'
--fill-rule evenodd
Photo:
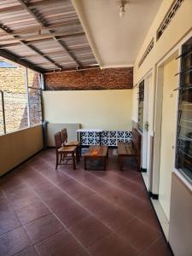
<path fill-rule="evenodd" d="M 169 242 L 175 256 L 192 255 L 192 192 L 172 175 Z"/>

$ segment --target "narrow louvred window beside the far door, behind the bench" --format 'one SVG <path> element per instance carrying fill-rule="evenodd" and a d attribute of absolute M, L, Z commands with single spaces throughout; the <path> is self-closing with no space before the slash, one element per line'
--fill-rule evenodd
<path fill-rule="evenodd" d="M 143 132 L 144 80 L 139 84 L 138 92 L 138 129 Z"/>

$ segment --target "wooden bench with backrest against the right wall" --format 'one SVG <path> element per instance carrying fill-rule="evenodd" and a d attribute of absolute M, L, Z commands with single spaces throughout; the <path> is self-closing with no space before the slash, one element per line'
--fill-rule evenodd
<path fill-rule="evenodd" d="M 120 171 L 123 171 L 124 157 L 135 157 L 137 160 L 137 171 L 140 171 L 141 135 L 135 128 L 132 129 L 132 140 L 130 143 L 118 143 L 118 157 Z"/>

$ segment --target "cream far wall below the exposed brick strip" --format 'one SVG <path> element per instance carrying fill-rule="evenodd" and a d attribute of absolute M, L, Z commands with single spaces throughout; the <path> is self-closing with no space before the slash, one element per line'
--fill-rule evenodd
<path fill-rule="evenodd" d="M 132 90 L 44 91 L 44 119 L 83 128 L 131 130 Z"/>

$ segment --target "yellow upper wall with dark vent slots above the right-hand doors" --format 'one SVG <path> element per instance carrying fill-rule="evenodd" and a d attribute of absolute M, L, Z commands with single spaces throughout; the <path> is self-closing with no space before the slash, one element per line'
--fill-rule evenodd
<path fill-rule="evenodd" d="M 156 64 L 169 51 L 182 40 L 182 38 L 192 30 L 192 1 L 184 0 L 182 6 L 177 10 L 177 14 L 173 17 L 171 23 L 166 28 L 166 31 L 156 42 L 156 32 L 164 19 L 168 9 L 170 9 L 173 0 L 163 0 L 160 9 L 155 16 L 154 22 L 148 30 L 148 34 L 143 42 L 141 49 L 137 55 L 134 65 L 134 84 L 137 84 L 143 77 L 153 70 L 153 84 L 155 84 Z M 144 51 L 147 49 L 151 39 L 154 38 L 154 48 L 148 54 L 141 67 L 138 67 L 138 62 L 141 60 Z M 152 88 L 154 90 L 154 88 Z M 137 105 L 137 96 L 133 97 L 133 107 Z M 153 113 L 153 112 L 152 112 Z M 133 108 L 132 118 L 137 119 L 137 108 Z"/>

